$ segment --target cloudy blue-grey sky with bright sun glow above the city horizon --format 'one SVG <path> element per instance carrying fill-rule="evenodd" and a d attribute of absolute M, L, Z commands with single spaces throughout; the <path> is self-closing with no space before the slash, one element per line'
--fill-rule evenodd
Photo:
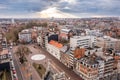
<path fill-rule="evenodd" d="M 0 18 L 120 16 L 120 0 L 0 0 Z"/>

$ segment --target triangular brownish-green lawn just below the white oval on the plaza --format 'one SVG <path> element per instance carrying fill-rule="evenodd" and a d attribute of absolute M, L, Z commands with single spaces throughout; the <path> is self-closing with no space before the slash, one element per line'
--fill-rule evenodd
<path fill-rule="evenodd" d="M 33 63 L 32 65 L 36 69 L 36 71 L 38 72 L 39 76 L 41 78 L 44 77 L 44 74 L 46 72 L 46 68 L 42 64 Z"/>

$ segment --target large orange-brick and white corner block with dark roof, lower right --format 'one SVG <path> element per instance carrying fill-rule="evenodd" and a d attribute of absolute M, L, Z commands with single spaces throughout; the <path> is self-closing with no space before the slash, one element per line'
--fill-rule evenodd
<path fill-rule="evenodd" d="M 84 80 L 100 80 L 115 72 L 115 59 L 109 53 L 96 52 L 78 59 L 76 63 L 76 73 Z"/>

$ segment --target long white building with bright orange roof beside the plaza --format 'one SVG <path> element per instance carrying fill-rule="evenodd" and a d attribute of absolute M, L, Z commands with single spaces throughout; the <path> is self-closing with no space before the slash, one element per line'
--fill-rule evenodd
<path fill-rule="evenodd" d="M 47 51 L 58 60 L 60 60 L 61 58 L 60 49 L 62 47 L 63 45 L 61 43 L 58 43 L 57 41 L 54 40 L 51 40 L 48 44 L 46 44 Z"/>

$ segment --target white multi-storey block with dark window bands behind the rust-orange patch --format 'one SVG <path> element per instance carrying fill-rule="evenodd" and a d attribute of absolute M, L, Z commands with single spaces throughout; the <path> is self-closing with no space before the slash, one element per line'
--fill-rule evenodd
<path fill-rule="evenodd" d="M 70 38 L 70 48 L 75 50 L 76 47 L 87 48 L 93 47 L 96 44 L 94 36 L 73 36 Z"/>

